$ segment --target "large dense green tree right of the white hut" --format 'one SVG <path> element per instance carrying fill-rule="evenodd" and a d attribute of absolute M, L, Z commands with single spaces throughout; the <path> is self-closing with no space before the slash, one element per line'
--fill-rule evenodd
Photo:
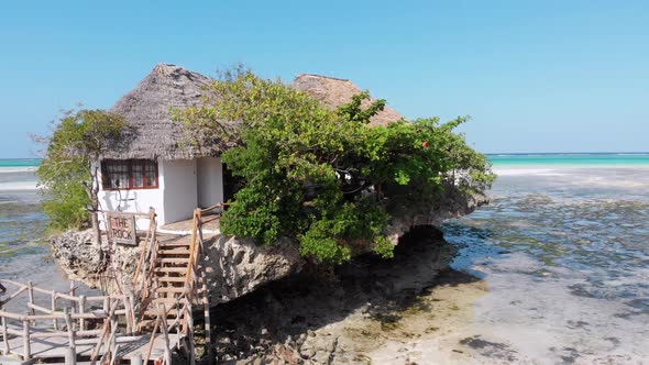
<path fill-rule="evenodd" d="M 239 143 L 222 155 L 244 181 L 221 219 L 226 234 L 262 244 L 297 239 L 302 255 L 330 263 L 367 248 L 391 257 L 391 201 L 427 202 L 453 181 L 482 191 L 493 180 L 486 158 L 453 133 L 465 118 L 369 128 L 384 100 L 362 108 L 363 92 L 331 111 L 244 69 L 224 74 L 211 90 L 219 98 L 175 115 L 194 143 Z M 219 121 L 241 123 L 231 130 Z"/>

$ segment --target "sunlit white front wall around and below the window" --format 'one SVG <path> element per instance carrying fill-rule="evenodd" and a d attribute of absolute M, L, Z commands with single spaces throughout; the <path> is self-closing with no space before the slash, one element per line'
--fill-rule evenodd
<path fill-rule="evenodd" d="M 101 181 L 101 169 L 99 169 L 99 181 Z M 157 224 L 163 225 L 167 221 L 164 211 L 165 191 L 165 166 L 158 162 L 158 188 L 157 189 L 133 189 L 133 190 L 103 190 L 99 188 L 99 204 L 101 210 L 148 213 L 153 207 L 157 214 Z M 106 221 L 102 214 L 99 215 L 102 229 L 106 229 Z M 147 230 L 148 219 L 138 219 L 138 229 Z"/>

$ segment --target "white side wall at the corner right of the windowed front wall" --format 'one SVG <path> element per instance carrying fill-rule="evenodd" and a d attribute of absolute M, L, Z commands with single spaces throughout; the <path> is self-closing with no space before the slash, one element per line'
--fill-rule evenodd
<path fill-rule="evenodd" d="M 161 165 L 165 177 L 165 223 L 190 219 L 198 207 L 196 159 L 163 161 Z"/>

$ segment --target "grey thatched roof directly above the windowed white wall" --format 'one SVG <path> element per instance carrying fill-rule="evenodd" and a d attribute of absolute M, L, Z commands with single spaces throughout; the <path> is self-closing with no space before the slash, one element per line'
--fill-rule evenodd
<path fill-rule="evenodd" d="M 170 108 L 201 103 L 209 82 L 208 77 L 183 67 L 155 66 L 110 110 L 123 115 L 131 129 L 124 132 L 120 146 L 110 148 L 102 157 L 183 159 L 207 155 L 184 143 L 183 126 L 172 121 Z"/>

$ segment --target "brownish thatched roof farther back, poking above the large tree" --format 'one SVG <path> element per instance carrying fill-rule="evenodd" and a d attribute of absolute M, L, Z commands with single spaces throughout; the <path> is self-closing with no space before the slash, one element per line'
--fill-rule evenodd
<path fill-rule="evenodd" d="M 312 98 L 320 100 L 327 107 L 334 109 L 352 100 L 352 97 L 362 92 L 352 81 L 341 78 L 333 78 L 320 75 L 301 74 L 293 81 L 293 87 L 307 92 Z M 369 107 L 376 99 L 365 100 L 364 107 Z M 387 125 L 403 119 L 396 110 L 385 107 L 385 109 L 374 115 L 370 125 Z"/>

